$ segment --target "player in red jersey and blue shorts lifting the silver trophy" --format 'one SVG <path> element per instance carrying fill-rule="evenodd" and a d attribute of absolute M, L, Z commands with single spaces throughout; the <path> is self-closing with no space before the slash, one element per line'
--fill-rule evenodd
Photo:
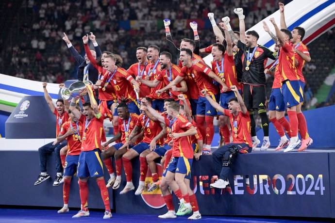
<path fill-rule="evenodd" d="M 106 59 L 106 58 L 105 58 Z M 82 203 L 81 210 L 73 218 L 89 216 L 87 207 L 88 198 L 88 177 L 96 178 L 97 184 L 101 191 L 101 198 L 105 205 L 104 219 L 111 218 L 109 194 L 103 178 L 103 166 L 101 161 L 101 132 L 103 131 L 103 117 L 98 109 L 98 104 L 93 97 L 93 91 L 87 85 L 87 93 L 90 103 L 83 104 L 83 136 L 81 153 L 78 160 L 77 176 L 79 177 L 80 200 Z M 75 98 L 72 98 L 70 111 L 80 119 L 82 113 L 75 108 Z"/>

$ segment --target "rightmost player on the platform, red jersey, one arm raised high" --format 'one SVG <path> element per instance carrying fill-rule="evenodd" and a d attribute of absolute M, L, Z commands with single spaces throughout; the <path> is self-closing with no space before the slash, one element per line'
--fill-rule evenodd
<path fill-rule="evenodd" d="M 280 9 L 280 26 L 283 29 L 287 29 L 286 23 L 285 23 L 285 14 L 284 14 L 284 4 L 279 3 L 279 9 Z M 305 61 L 310 62 L 311 57 L 309 55 L 308 48 L 301 42 L 304 35 L 305 35 L 305 29 L 302 27 L 294 27 L 292 33 L 292 38 L 290 40 L 292 46 L 293 46 L 293 51 L 294 51 L 294 57 L 298 61 L 297 65 L 297 72 L 298 76 L 300 78 L 299 83 L 301 86 L 301 91 L 300 91 L 300 103 L 297 105 L 297 118 L 298 118 L 298 128 L 299 128 L 299 133 L 301 136 L 301 146 L 298 149 L 298 151 L 303 151 L 305 150 L 309 145 L 313 143 L 313 139 L 309 137 L 308 130 L 307 130 L 307 123 L 305 116 L 301 112 L 301 106 L 303 103 L 303 92 L 304 92 L 304 86 L 305 86 L 305 79 L 302 75 L 302 67 L 305 64 Z"/>

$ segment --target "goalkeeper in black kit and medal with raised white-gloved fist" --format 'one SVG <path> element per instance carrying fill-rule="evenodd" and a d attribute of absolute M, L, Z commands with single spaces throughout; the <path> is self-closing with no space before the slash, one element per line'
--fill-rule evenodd
<path fill-rule="evenodd" d="M 251 119 L 252 148 L 254 149 L 260 144 L 256 135 L 256 123 L 253 118 L 253 111 L 258 110 L 258 114 L 262 119 L 262 128 L 264 131 L 264 139 L 261 148 L 262 150 L 265 150 L 270 146 L 270 141 L 268 137 L 264 64 L 268 58 L 275 60 L 276 56 L 268 48 L 257 44 L 259 35 L 256 31 L 246 32 L 245 43 L 241 40 L 237 40 L 230 27 L 229 20 L 229 17 L 222 18 L 233 43 L 243 51 L 243 99 Z"/>

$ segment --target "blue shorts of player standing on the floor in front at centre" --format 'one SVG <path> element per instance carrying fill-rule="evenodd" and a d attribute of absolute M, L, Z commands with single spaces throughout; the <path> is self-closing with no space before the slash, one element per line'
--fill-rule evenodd
<path fill-rule="evenodd" d="M 187 165 L 188 162 L 189 172 L 187 173 Z M 184 159 L 184 157 L 172 157 L 170 162 L 168 163 L 167 168 L 164 170 L 163 176 L 166 176 L 166 173 L 170 171 L 171 173 L 180 173 L 185 174 L 186 179 L 191 179 L 191 167 L 192 167 L 193 159 Z"/>

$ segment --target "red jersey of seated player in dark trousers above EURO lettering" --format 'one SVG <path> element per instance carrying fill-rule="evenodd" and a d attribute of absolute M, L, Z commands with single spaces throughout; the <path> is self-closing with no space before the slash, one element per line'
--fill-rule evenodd
<path fill-rule="evenodd" d="M 224 115 L 229 117 L 230 124 L 233 128 L 233 143 L 246 143 L 252 147 L 249 112 L 245 114 L 238 112 L 238 115 L 234 116 L 228 109 L 225 109 Z"/>

